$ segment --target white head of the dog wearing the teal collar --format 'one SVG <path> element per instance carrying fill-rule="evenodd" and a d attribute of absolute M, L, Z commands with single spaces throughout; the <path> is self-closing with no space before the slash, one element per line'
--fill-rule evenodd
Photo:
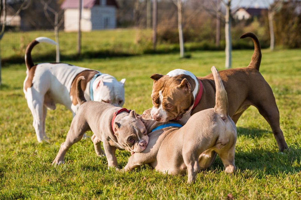
<path fill-rule="evenodd" d="M 117 81 L 113 76 L 110 75 L 96 78 L 93 84 L 94 100 L 122 107 L 125 101 L 125 82 L 126 79 Z"/>

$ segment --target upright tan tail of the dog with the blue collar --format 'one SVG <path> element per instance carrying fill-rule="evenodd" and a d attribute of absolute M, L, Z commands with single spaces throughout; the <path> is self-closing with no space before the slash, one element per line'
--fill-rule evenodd
<path fill-rule="evenodd" d="M 223 85 L 222 79 L 219 76 L 217 69 L 213 66 L 211 67 L 213 73 L 216 94 L 215 94 L 215 106 L 214 111 L 222 116 L 228 116 L 228 97 L 225 87 Z"/>

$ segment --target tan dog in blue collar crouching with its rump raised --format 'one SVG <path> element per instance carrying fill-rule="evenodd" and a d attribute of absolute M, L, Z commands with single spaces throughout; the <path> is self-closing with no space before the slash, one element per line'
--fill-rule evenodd
<path fill-rule="evenodd" d="M 215 67 L 211 70 L 216 84 L 214 108 L 195 113 L 182 128 L 164 124 L 162 129 L 158 129 L 162 123 L 152 118 L 150 110 L 144 111 L 142 121 L 149 133 L 149 143 L 144 151 L 129 158 L 124 170 L 149 164 L 159 172 L 172 175 L 187 171 L 188 183 L 191 183 L 200 169 L 206 169 L 213 163 L 216 153 L 226 172 L 236 170 L 236 126 L 228 115 L 227 93 L 222 80 Z"/>

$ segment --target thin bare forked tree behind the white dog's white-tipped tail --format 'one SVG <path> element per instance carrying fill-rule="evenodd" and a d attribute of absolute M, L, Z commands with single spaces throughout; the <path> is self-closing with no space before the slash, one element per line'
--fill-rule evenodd
<path fill-rule="evenodd" d="M 51 3 L 52 0 L 48 0 L 47 2 L 45 2 L 44 0 L 40 0 L 40 1 L 44 6 L 43 9 L 44 9 L 44 13 L 45 13 L 47 20 L 54 27 L 55 42 L 57 43 L 57 45 L 56 45 L 56 62 L 60 62 L 60 42 L 59 42 L 58 30 L 64 22 L 63 17 L 61 17 L 61 20 L 59 21 L 59 17 L 64 12 L 64 10 L 56 11 L 55 9 L 50 7 L 49 3 Z M 49 16 L 47 11 L 50 11 L 52 14 L 54 14 L 54 22 L 51 19 L 51 17 Z"/>

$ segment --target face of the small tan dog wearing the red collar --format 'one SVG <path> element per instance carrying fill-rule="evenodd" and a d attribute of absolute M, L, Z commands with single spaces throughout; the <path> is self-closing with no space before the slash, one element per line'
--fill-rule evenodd
<path fill-rule="evenodd" d="M 134 110 L 114 122 L 114 133 L 119 144 L 131 154 L 143 151 L 148 144 L 147 130 Z"/>

